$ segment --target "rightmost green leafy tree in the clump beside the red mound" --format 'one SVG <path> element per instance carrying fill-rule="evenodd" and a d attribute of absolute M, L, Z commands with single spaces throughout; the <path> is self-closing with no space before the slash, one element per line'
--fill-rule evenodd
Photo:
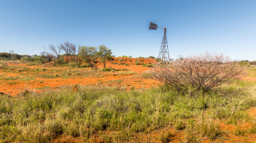
<path fill-rule="evenodd" d="M 106 62 L 113 58 L 111 49 L 107 48 L 105 45 L 100 45 L 98 57 L 100 58 L 101 63 L 104 64 L 104 67 L 106 67 Z"/>

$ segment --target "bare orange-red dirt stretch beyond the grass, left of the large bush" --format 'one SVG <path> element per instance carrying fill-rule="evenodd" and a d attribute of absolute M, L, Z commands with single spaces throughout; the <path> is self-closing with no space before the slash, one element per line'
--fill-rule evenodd
<path fill-rule="evenodd" d="M 122 59 L 122 61 L 120 61 Z M 137 60 L 137 61 L 136 61 Z M 156 63 L 156 60 L 153 59 L 139 59 L 140 63 L 144 64 L 152 64 Z M 100 76 L 65 76 L 64 77 L 54 77 L 54 78 L 47 78 L 47 77 L 33 77 L 32 80 L 24 81 L 23 79 L 28 79 L 34 75 L 44 75 L 49 74 L 47 71 L 61 70 L 56 74 L 62 74 L 64 71 L 69 71 L 69 74 L 73 74 L 74 70 L 81 70 L 83 71 L 92 71 L 89 68 L 70 68 L 70 67 L 53 67 L 53 66 L 27 66 L 26 64 L 22 63 L 8 63 L 7 66 L 11 67 L 14 70 L 11 71 L 3 71 L 0 70 L 0 77 L 5 78 L 5 80 L 0 79 L 1 87 L 0 92 L 8 95 L 17 95 L 20 92 L 29 90 L 29 91 L 43 91 L 44 88 L 56 88 L 58 86 L 73 86 L 73 85 L 108 85 L 108 86 L 118 86 L 119 88 L 127 88 L 127 89 L 140 89 L 140 88 L 151 88 L 154 86 L 158 86 L 159 83 L 153 79 L 147 79 L 141 76 L 141 73 L 150 69 L 150 67 L 143 67 L 141 65 L 134 65 L 138 62 L 138 59 L 135 58 L 114 58 L 113 61 L 106 64 L 106 67 L 112 67 L 113 69 L 127 69 L 129 71 L 115 71 L 114 74 L 110 72 L 99 72 Z M 113 64 L 114 63 L 114 64 Z M 125 66 L 124 64 L 119 63 L 126 63 L 131 64 L 129 66 Z M 40 69 L 42 70 L 40 73 L 26 73 L 26 71 L 20 71 L 27 67 L 29 70 L 33 69 Z M 103 65 L 100 65 L 101 69 Z M 17 71 L 15 69 L 18 69 Z M 63 71 L 63 72 L 62 72 Z M 7 78 L 19 78 L 23 77 L 23 79 L 19 80 L 8 80 Z"/>

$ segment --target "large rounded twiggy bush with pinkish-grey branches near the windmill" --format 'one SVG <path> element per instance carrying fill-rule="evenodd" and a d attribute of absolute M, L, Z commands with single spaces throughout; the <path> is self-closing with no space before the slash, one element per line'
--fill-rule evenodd
<path fill-rule="evenodd" d="M 216 86 L 239 79 L 245 74 L 243 67 L 224 54 L 193 55 L 171 63 L 157 63 L 149 75 L 179 91 L 189 88 L 209 91 Z"/>

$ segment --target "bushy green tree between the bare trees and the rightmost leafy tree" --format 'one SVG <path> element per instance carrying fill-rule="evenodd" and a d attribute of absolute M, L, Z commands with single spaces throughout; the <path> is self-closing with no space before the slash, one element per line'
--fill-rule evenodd
<path fill-rule="evenodd" d="M 98 64 L 98 48 L 95 46 L 81 46 L 79 48 L 79 57 L 91 67 L 97 69 Z"/>

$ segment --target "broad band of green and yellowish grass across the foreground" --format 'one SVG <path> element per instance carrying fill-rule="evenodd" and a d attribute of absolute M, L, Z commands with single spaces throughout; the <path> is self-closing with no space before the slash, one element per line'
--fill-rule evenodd
<path fill-rule="evenodd" d="M 183 130 L 183 142 L 214 140 L 221 136 L 219 120 L 249 120 L 245 110 L 256 105 L 254 84 L 240 84 L 192 96 L 168 86 L 129 92 L 92 86 L 72 92 L 71 86 L 63 86 L 40 94 L 0 96 L 0 142 L 53 142 L 62 134 L 92 141 L 104 131 L 115 132 L 101 134 L 106 141 L 129 142 L 136 133 L 167 126 Z M 164 133 L 158 139 L 168 142 L 173 136 Z"/>

